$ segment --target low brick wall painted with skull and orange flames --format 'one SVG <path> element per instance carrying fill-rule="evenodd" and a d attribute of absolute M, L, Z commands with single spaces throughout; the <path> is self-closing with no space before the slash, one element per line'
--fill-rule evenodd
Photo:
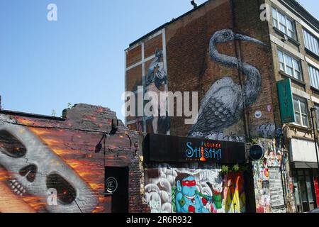
<path fill-rule="evenodd" d="M 103 153 L 95 146 L 113 117 L 109 109 L 85 104 L 67 110 L 65 119 L 0 114 L 0 212 L 108 212 Z M 121 124 L 118 132 L 124 130 Z M 110 136 L 106 149 L 106 165 L 121 162 L 140 179 L 126 136 Z"/>

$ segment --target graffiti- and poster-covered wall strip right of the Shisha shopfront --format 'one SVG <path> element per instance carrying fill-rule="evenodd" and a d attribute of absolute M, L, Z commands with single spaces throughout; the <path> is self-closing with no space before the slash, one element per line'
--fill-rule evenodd
<path fill-rule="evenodd" d="M 293 182 L 286 170 L 282 148 L 274 140 L 263 140 L 265 155 L 252 162 L 254 194 L 257 213 L 286 213 L 294 211 Z"/>

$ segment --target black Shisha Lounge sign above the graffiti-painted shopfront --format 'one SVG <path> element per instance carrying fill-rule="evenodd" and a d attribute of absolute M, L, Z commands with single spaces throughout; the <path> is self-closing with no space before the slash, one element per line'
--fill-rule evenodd
<path fill-rule="evenodd" d="M 146 162 L 245 163 L 245 143 L 147 134 L 143 142 Z"/>

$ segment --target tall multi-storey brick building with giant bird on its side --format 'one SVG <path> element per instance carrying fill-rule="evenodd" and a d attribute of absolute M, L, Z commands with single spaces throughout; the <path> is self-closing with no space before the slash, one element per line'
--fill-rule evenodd
<path fill-rule="evenodd" d="M 318 167 L 309 109 L 319 100 L 318 24 L 296 1 L 207 1 L 125 50 L 125 91 L 133 92 L 136 103 L 147 92 L 198 92 L 196 123 L 186 124 L 189 116 L 185 113 L 145 116 L 138 108 L 125 123 L 145 133 L 245 143 L 247 152 L 252 145 L 261 145 L 263 158 L 246 160 L 252 173 L 248 181 L 253 182 L 254 211 L 305 212 L 317 207 Z M 281 118 L 284 109 L 277 82 L 283 79 L 290 79 L 294 122 Z M 167 106 L 177 110 L 185 107 L 184 100 L 150 102 L 153 109 L 168 113 Z M 188 107 L 194 109 L 192 102 Z M 210 174 L 216 176 L 220 189 L 208 184 L 205 193 L 201 192 L 220 196 L 221 208 L 210 209 L 212 213 L 245 211 L 225 209 L 231 190 L 227 177 L 216 173 L 226 167 L 231 165 L 211 166 Z M 183 171 L 190 174 L 203 169 L 194 162 Z M 155 176 L 172 178 L 171 190 L 177 175 L 184 173 L 178 167 L 173 176 L 165 168 L 160 170 Z M 160 184 L 153 181 L 152 187 L 162 193 Z M 145 187 L 151 208 L 163 202 L 158 196 L 150 204 L 152 189 Z M 167 210 L 169 204 L 164 204 L 163 209 L 152 210 Z"/>

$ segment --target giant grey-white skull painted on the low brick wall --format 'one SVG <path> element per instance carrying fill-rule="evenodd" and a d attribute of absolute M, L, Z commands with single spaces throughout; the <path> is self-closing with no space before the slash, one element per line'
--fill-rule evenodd
<path fill-rule="evenodd" d="M 49 212 L 91 212 L 97 198 L 90 187 L 42 141 L 23 126 L 0 126 L 0 165 L 9 173 L 17 196 L 38 196 Z M 57 190 L 59 206 L 47 204 L 48 190 Z"/>

